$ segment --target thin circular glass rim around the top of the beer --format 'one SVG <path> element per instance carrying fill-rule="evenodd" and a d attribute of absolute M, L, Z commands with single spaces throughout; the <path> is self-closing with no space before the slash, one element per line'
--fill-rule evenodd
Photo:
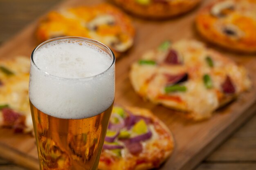
<path fill-rule="evenodd" d="M 52 75 L 52 74 L 49 74 L 45 71 L 43 71 L 42 69 L 38 68 L 38 66 L 36 65 L 36 63 L 34 62 L 34 53 L 36 52 L 36 50 L 38 50 L 41 46 L 49 43 L 49 42 L 54 42 L 54 41 L 57 41 L 57 40 L 81 40 L 81 41 L 84 41 L 84 42 L 88 42 L 89 44 L 97 44 L 101 47 L 103 47 L 104 49 L 108 50 L 110 52 L 110 57 L 112 58 L 112 63 L 111 65 L 106 68 L 106 70 L 104 70 L 103 72 L 97 74 L 97 75 L 92 75 L 92 76 L 89 76 L 89 77 L 81 77 L 81 78 L 65 78 L 65 77 L 59 77 L 59 76 L 56 76 L 56 75 Z M 102 49 L 101 49 L 102 50 Z M 105 44 L 97 41 L 97 40 L 93 40 L 93 39 L 90 39 L 90 38 L 85 38 L 85 37 L 77 37 L 77 36 L 65 36 L 65 37 L 58 37 L 58 38 L 52 38 L 50 40 L 46 40 L 45 42 L 42 42 L 41 44 L 39 44 L 38 46 L 36 46 L 36 48 L 32 51 L 31 53 L 31 56 L 30 56 L 30 61 L 31 61 L 31 64 L 33 66 L 35 66 L 36 69 L 38 69 L 39 71 L 43 72 L 44 74 L 48 75 L 48 76 L 51 76 L 51 77 L 54 77 L 56 79 L 91 79 L 93 77 L 97 77 L 99 75 L 102 75 L 103 73 L 105 73 L 106 71 L 108 71 L 114 64 L 115 64 L 115 54 L 113 53 L 113 51 L 108 47 L 106 46 Z"/>

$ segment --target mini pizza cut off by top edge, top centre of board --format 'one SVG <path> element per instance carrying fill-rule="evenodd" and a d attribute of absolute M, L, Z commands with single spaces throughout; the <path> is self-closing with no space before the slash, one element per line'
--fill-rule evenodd
<path fill-rule="evenodd" d="M 201 0 L 112 0 L 130 13 L 144 18 L 168 18 L 186 13 Z"/>

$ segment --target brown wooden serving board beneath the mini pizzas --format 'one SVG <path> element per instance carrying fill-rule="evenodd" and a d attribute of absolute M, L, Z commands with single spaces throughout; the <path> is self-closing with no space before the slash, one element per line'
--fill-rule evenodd
<path fill-rule="evenodd" d="M 256 112 L 255 88 L 244 93 L 225 108 L 216 111 L 211 119 L 200 122 L 191 122 L 181 116 L 183 113 L 144 101 L 132 89 L 128 79 L 130 64 L 136 61 L 144 51 L 155 48 L 166 39 L 176 41 L 184 38 L 195 38 L 200 40 L 194 29 L 194 18 L 197 11 L 211 1 L 205 0 L 190 13 L 171 20 L 147 21 L 133 18 L 137 30 L 135 44 L 125 56 L 116 62 L 115 101 L 121 105 L 139 106 L 152 110 L 173 132 L 175 149 L 159 170 L 191 170 Z M 97 4 L 99 2 L 103 2 L 103 0 L 94 0 L 93 2 L 68 0 L 59 5 L 58 8 Z M 34 38 L 37 22 L 4 44 L 0 49 L 0 57 L 30 56 L 32 50 L 38 45 Z M 255 55 L 241 55 L 225 52 L 222 49 L 217 50 L 244 65 L 249 71 L 253 84 L 256 84 Z M 11 130 L 0 129 L 0 154 L 1 157 L 32 170 L 39 169 L 36 144 L 31 135 L 13 134 Z"/>

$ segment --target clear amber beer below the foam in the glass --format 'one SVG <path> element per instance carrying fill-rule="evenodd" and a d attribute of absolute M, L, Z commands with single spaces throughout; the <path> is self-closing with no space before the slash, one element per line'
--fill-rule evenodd
<path fill-rule="evenodd" d="M 85 119 L 61 119 L 30 102 L 41 170 L 97 170 L 112 105 Z"/>

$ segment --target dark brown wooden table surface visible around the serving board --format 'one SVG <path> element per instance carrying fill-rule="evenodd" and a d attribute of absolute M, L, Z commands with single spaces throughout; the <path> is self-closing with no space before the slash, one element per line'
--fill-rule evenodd
<path fill-rule="evenodd" d="M 0 46 L 62 1 L 0 0 Z M 1 156 L 0 153 L 0 170 L 27 170 L 2 159 Z M 195 170 L 256 170 L 256 115 Z"/>

